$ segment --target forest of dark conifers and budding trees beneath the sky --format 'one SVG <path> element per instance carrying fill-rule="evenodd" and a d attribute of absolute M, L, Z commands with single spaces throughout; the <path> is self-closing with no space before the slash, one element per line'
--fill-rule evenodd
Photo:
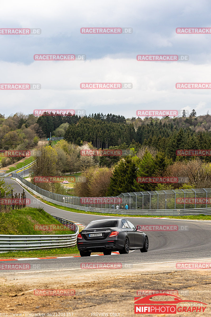
<path fill-rule="evenodd" d="M 81 171 L 87 179 L 74 195 L 115 196 L 121 192 L 211 187 L 210 157 L 179 157 L 178 149 L 211 149 L 211 116 L 125 118 L 114 114 L 41 116 L 0 115 L 2 149 L 28 149 L 39 139 L 64 136 L 40 148 L 34 175 L 56 176 Z M 82 149 L 121 149 L 124 156 L 82 156 Z M 1 159 L 3 164 L 5 159 Z M 3 166 L 2 164 L 2 166 Z M 10 163 L 11 164 L 11 163 Z M 187 177 L 186 184 L 138 184 L 141 176 Z M 104 182 L 104 183 L 103 183 Z M 101 184 L 101 185 L 100 185 Z M 103 185 L 104 184 L 104 185 Z M 41 186 L 40 184 L 38 184 Z M 42 185 L 50 186 L 50 185 Z M 52 187 L 52 186 L 51 186 Z M 64 193 L 55 185 L 45 189 Z"/>

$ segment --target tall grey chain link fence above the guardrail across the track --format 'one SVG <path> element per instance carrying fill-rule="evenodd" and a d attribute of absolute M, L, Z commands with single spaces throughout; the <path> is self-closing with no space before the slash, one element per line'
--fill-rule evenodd
<path fill-rule="evenodd" d="M 12 173 L 23 184 L 38 194 L 63 204 L 75 206 L 101 208 L 101 209 L 126 209 L 128 210 L 173 210 L 173 209 L 199 209 L 211 208 L 211 188 L 178 189 L 168 191 L 144 191 L 122 193 L 115 197 L 78 197 L 55 194 L 21 178 Z"/>

